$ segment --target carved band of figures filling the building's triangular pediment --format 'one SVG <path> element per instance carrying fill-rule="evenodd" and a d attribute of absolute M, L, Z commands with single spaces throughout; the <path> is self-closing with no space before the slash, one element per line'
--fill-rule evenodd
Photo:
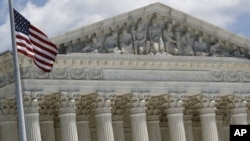
<path fill-rule="evenodd" d="M 148 19 L 124 22 L 106 33 L 93 33 L 86 40 L 69 43 L 60 51 L 62 54 L 76 52 L 250 58 L 247 48 L 216 39 L 157 13 Z"/>

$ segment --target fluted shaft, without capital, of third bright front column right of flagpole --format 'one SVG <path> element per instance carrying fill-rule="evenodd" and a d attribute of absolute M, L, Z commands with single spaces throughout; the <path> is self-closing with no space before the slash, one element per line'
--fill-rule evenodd
<path fill-rule="evenodd" d="M 108 107 L 96 109 L 96 131 L 98 141 L 114 141 L 111 110 Z"/>

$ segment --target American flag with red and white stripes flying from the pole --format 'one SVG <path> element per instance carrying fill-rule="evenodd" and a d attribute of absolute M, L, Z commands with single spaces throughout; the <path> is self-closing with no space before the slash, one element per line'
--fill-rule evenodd
<path fill-rule="evenodd" d="M 33 59 L 37 67 L 50 72 L 58 48 L 48 36 L 14 9 L 17 51 Z"/>

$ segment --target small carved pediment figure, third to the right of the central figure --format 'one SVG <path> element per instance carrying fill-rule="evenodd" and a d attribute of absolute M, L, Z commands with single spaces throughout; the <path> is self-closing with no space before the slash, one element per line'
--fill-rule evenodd
<path fill-rule="evenodd" d="M 202 36 L 198 36 L 198 40 L 194 42 L 194 52 L 196 56 L 207 56 L 207 45 L 203 42 Z"/>

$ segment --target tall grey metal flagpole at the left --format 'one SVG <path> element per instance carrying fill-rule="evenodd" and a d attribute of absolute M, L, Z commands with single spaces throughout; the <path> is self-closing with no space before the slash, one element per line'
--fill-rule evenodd
<path fill-rule="evenodd" d="M 10 12 L 10 28 L 11 28 L 11 39 L 12 39 L 12 51 L 13 51 L 13 62 L 14 62 L 14 73 L 15 73 L 15 93 L 17 102 L 18 112 L 18 133 L 19 141 L 26 141 L 26 130 L 25 130 L 25 119 L 23 110 L 23 97 L 22 97 L 22 85 L 19 72 L 19 63 L 16 48 L 16 36 L 15 36 L 15 24 L 13 16 L 12 1 L 9 1 L 9 12 Z"/>

